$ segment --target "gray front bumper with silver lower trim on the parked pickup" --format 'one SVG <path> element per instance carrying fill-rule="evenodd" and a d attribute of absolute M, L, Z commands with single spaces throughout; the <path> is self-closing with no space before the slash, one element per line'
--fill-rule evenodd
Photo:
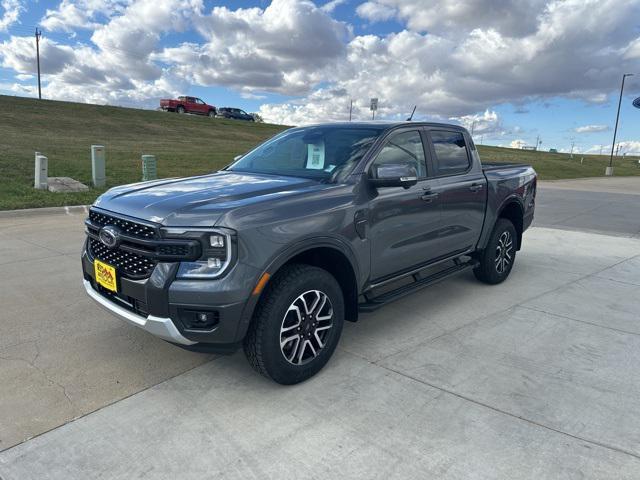
<path fill-rule="evenodd" d="M 113 294 L 97 286 L 86 244 L 82 254 L 87 294 L 118 318 L 190 350 L 237 349 L 251 321 L 257 300 L 251 292 L 260 272 L 238 262 L 218 279 L 177 280 L 177 269 L 177 263 L 160 262 L 149 278 L 120 277 Z M 189 328 L 185 315 L 193 311 L 213 312 L 218 322 L 208 330 Z"/>

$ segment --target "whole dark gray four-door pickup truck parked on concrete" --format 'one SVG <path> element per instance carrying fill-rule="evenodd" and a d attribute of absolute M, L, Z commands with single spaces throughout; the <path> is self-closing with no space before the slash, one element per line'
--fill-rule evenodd
<path fill-rule="evenodd" d="M 292 128 L 210 175 L 103 194 L 85 223 L 84 286 L 164 340 L 243 346 L 293 384 L 361 312 L 467 269 L 505 280 L 535 196 L 533 168 L 482 166 L 459 126 Z"/>

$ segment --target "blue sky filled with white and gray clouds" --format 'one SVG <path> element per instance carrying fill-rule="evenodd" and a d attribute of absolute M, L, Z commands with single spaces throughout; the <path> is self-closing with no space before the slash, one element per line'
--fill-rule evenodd
<path fill-rule="evenodd" d="M 0 93 L 154 108 L 191 94 L 303 124 L 416 117 L 485 144 L 640 151 L 637 0 L 0 1 Z"/>

